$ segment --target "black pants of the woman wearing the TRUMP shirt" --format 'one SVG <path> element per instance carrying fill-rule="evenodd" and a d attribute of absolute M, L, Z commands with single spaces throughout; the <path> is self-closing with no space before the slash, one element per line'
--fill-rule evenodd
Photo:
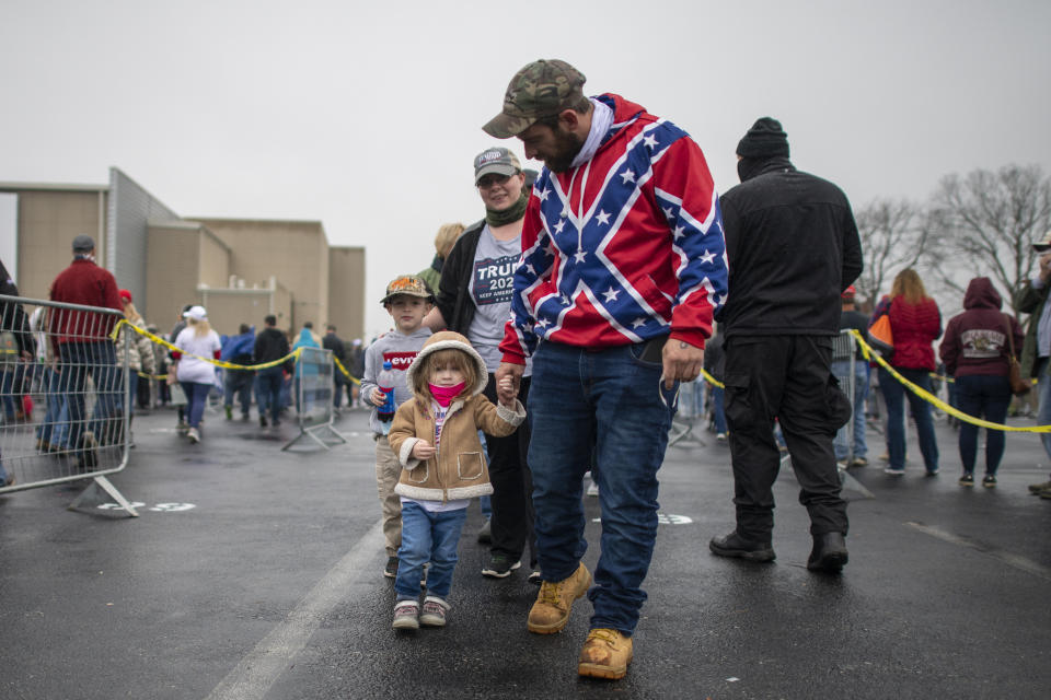
<path fill-rule="evenodd" d="M 496 381 L 489 374 L 485 397 L 496 404 Z M 522 406 L 529 400 L 529 377 L 522 377 L 518 389 Z M 526 464 L 529 454 L 529 419 L 506 438 L 485 435 L 489 455 L 489 480 L 493 482 L 493 533 L 490 551 L 507 555 L 513 562 L 521 558 L 529 545 L 530 567 L 536 563 L 536 535 L 533 533 L 533 477 Z"/>

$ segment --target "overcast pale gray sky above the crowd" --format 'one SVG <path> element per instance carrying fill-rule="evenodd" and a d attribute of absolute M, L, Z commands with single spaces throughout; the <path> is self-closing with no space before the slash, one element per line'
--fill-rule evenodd
<path fill-rule="evenodd" d="M 774 116 L 857 207 L 978 167 L 1051 173 L 1049 30 L 1047 0 L 4 0 L 0 180 L 116 165 L 184 217 L 321 220 L 367 247 L 374 332 L 439 224 L 483 215 L 481 125 L 531 60 L 684 128 L 720 191 Z"/>

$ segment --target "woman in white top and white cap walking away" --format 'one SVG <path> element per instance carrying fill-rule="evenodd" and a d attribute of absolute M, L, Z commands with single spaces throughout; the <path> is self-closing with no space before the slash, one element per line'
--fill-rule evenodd
<path fill-rule="evenodd" d="M 216 369 L 204 358 L 218 360 L 222 346 L 219 334 L 208 325 L 208 312 L 204 306 L 193 306 L 183 316 L 186 327 L 175 338 L 178 352 L 173 353 L 176 360 L 175 376 L 186 393 L 186 422 L 189 423 L 186 434 L 190 442 L 200 442 L 205 400 L 216 383 Z"/>

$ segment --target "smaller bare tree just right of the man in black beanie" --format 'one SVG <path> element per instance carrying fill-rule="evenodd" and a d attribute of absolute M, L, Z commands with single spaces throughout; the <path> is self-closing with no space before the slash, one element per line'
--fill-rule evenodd
<path fill-rule="evenodd" d="M 920 207 L 906 199 L 876 199 L 854 213 L 862 240 L 865 269 L 854 282 L 862 305 L 875 304 L 883 288 L 899 271 L 914 267 L 927 246 L 927 232 L 920 225 Z"/>

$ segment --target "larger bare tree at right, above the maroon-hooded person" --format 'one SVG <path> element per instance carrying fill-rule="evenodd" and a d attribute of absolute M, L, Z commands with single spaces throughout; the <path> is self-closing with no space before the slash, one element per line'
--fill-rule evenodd
<path fill-rule="evenodd" d="M 971 277 L 992 278 L 1017 315 L 1013 292 L 1033 269 L 1032 244 L 1051 229 L 1051 179 L 1039 165 L 947 175 L 925 228 L 937 242 L 932 267 L 946 287 L 962 296 Z"/>

